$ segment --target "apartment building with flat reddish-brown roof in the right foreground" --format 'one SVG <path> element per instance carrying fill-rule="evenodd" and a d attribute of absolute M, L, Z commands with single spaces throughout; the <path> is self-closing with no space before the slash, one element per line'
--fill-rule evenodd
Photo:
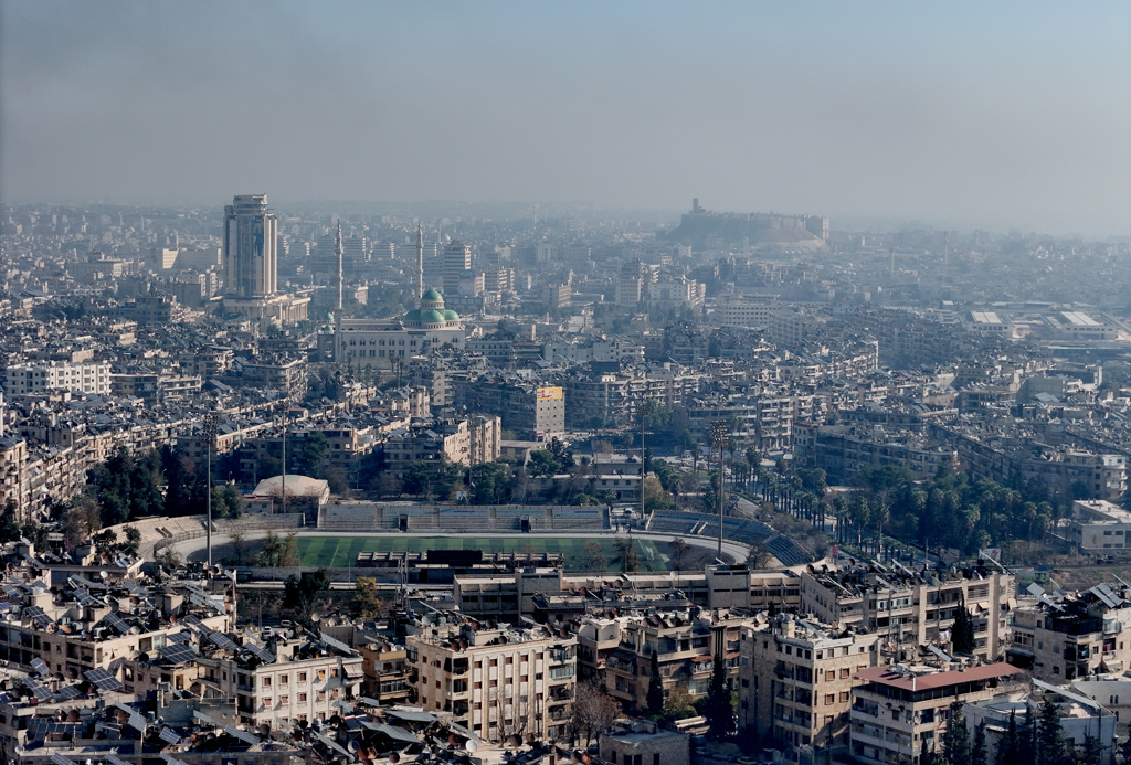
<path fill-rule="evenodd" d="M 947 671 L 869 667 L 852 692 L 852 756 L 880 765 L 915 760 L 924 749 L 942 754 L 942 734 L 955 702 L 979 702 L 1020 690 L 1025 672 L 1003 663 Z"/>

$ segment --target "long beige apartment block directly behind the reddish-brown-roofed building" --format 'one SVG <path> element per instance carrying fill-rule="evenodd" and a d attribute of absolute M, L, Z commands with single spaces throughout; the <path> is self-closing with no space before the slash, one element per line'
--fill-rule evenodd
<path fill-rule="evenodd" d="M 974 654 L 994 661 L 1005 650 L 1005 617 L 1013 575 L 972 566 L 957 573 L 901 574 L 864 567 L 801 575 L 801 612 L 881 636 L 883 653 L 913 652 L 920 645 L 949 646 L 955 614 L 965 605 L 974 620 Z"/>

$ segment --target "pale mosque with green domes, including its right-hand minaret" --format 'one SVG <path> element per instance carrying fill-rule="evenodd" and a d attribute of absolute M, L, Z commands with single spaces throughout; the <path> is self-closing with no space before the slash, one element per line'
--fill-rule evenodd
<path fill-rule="evenodd" d="M 466 332 L 459 314 L 443 307 L 443 296 L 435 289 L 424 289 L 424 232 L 416 232 L 416 294 L 420 307 L 402 318 L 343 319 L 334 324 L 334 359 L 352 365 L 391 368 L 413 356 L 450 345 L 464 347 Z"/>

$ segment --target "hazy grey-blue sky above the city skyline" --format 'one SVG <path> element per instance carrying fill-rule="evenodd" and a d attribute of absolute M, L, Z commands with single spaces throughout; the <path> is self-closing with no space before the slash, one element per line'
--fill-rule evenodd
<path fill-rule="evenodd" d="M 1131 3 L 0 0 L 0 198 L 1131 233 Z"/>

